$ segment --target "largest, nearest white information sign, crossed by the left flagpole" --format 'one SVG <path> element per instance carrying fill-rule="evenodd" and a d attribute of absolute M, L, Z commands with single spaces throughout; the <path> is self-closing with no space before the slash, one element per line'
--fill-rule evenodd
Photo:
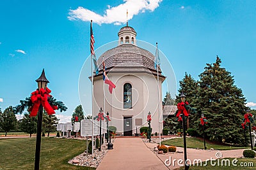
<path fill-rule="evenodd" d="M 93 136 L 100 134 L 99 122 L 93 121 Z M 81 136 L 92 136 L 92 120 L 81 120 Z"/>

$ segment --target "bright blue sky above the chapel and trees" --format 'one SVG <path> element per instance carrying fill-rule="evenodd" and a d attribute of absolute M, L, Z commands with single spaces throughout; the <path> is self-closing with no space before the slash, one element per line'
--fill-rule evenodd
<path fill-rule="evenodd" d="M 237 87 L 255 108 L 256 1 L 0 1 L 0 108 L 19 104 L 36 89 L 45 69 L 52 96 L 68 111 L 79 102 L 79 73 L 90 55 L 90 22 L 95 48 L 118 39 L 129 25 L 137 39 L 161 50 L 177 84 L 185 75 L 198 80 L 206 63 L 222 60 Z"/>

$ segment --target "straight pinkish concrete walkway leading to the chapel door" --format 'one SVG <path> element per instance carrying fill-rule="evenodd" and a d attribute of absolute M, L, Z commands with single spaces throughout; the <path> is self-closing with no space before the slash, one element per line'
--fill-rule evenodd
<path fill-rule="evenodd" d="M 168 169 L 143 143 L 141 138 L 116 138 L 97 170 Z"/>

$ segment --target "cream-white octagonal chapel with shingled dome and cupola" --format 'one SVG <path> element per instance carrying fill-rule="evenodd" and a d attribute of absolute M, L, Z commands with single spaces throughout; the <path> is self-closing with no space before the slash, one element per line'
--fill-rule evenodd
<path fill-rule="evenodd" d="M 99 74 L 93 78 L 94 113 L 100 107 L 103 109 L 105 103 L 105 115 L 109 112 L 111 118 L 109 125 L 115 126 L 116 134 L 121 136 L 133 136 L 136 127 L 140 134 L 140 127 L 148 126 L 148 112 L 152 116 L 152 133 L 158 133 L 159 127 L 161 132 L 163 130 L 163 119 L 159 121 L 159 114 L 163 117 L 162 83 L 165 77 L 159 68 L 157 84 L 155 56 L 136 45 L 136 34 L 128 24 L 120 29 L 118 45 L 99 57 Z M 103 60 L 109 80 L 116 85 L 112 94 L 102 80 Z"/>

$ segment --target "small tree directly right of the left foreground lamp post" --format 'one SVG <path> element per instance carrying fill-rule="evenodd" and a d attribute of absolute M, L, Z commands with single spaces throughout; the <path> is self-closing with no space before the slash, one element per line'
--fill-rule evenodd
<path fill-rule="evenodd" d="M 42 122 L 42 132 L 47 132 L 47 136 L 50 136 L 50 132 L 56 131 L 56 124 L 58 124 L 59 119 L 55 115 L 48 115 L 44 110 L 43 122 Z"/>

